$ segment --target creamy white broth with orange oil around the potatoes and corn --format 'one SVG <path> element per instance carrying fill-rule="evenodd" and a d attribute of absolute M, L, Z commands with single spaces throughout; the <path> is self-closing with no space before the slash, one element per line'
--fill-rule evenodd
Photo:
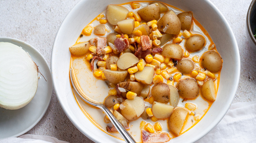
<path fill-rule="evenodd" d="M 138 11 L 138 9 L 132 9 L 131 8 L 131 4 L 130 3 L 125 3 L 124 5 L 122 5 L 123 7 L 127 8 L 129 11 Z M 140 4 L 142 5 L 142 7 L 145 7 L 149 4 L 149 2 L 140 2 Z M 167 8 L 169 10 L 173 10 L 176 14 L 183 12 L 181 9 L 179 8 L 175 8 L 173 6 L 167 5 Z M 105 16 L 106 11 L 103 11 L 101 14 L 103 14 Z M 164 13 L 161 13 L 161 16 Z M 99 14 L 100 15 L 100 14 Z M 95 18 L 90 24 L 88 25 L 92 25 L 92 26 L 96 26 L 100 24 L 99 21 Z M 112 28 L 113 26 L 109 23 L 106 23 L 106 34 L 100 37 L 106 37 L 106 35 L 108 33 L 113 33 L 115 32 L 114 29 Z M 86 25 L 85 25 L 86 26 Z M 181 33 L 183 32 L 183 30 L 181 30 Z M 189 56 L 187 58 L 192 59 L 194 56 L 198 56 L 199 58 L 202 56 L 202 54 L 208 50 L 208 47 L 211 46 L 213 43 L 213 41 L 210 39 L 209 35 L 207 34 L 207 32 L 205 31 L 205 29 L 193 18 L 193 24 L 192 24 L 192 28 L 190 30 L 190 32 L 192 34 L 200 34 L 203 36 L 204 40 L 205 40 L 205 45 L 203 47 L 202 50 L 199 50 L 197 52 L 191 52 L 189 53 Z M 82 33 L 81 33 L 82 34 Z M 98 37 L 97 35 L 92 34 L 90 36 L 85 36 L 83 35 L 82 37 L 79 37 L 76 41 L 75 44 L 78 43 L 82 43 L 82 42 L 86 42 L 89 41 L 95 37 Z M 172 40 L 169 40 L 168 42 L 166 42 L 165 44 L 168 43 L 172 43 Z M 181 47 L 183 48 L 184 51 L 186 51 L 186 49 L 184 48 L 184 42 L 185 40 L 182 40 L 181 43 L 179 43 L 181 45 Z M 165 45 L 164 44 L 164 45 Z M 164 45 L 162 45 L 161 47 L 163 47 Z M 216 48 L 213 48 L 213 50 L 216 50 Z M 216 50 L 217 51 L 217 50 Z M 104 99 L 109 95 L 108 92 L 110 89 L 114 89 L 114 87 L 109 87 L 108 86 L 108 82 L 106 82 L 105 80 L 102 80 L 101 78 L 97 78 L 94 76 L 93 72 L 90 69 L 90 63 L 88 62 L 88 60 L 86 60 L 86 57 L 88 56 L 71 56 L 71 66 L 74 68 L 75 71 L 75 76 L 76 76 L 76 80 L 78 81 L 78 84 L 80 86 L 80 88 L 82 89 L 82 91 L 84 92 L 84 94 L 86 96 L 88 96 L 89 98 L 97 101 L 97 102 L 104 102 Z M 204 70 L 202 69 L 202 67 L 200 67 L 201 61 L 198 62 L 194 62 L 195 63 L 195 68 L 194 69 L 200 69 L 200 70 Z M 179 71 L 177 70 L 176 72 L 171 73 L 171 76 L 175 75 L 176 73 L 178 73 Z M 214 84 L 215 84 L 215 90 L 217 93 L 217 89 L 218 89 L 218 85 L 219 85 L 219 81 L 220 81 L 220 71 L 217 73 L 214 73 L 215 77 L 217 80 L 214 80 Z M 183 74 L 181 76 L 181 79 L 185 79 L 186 77 L 188 77 L 189 74 Z M 190 76 L 189 76 L 190 77 Z M 164 78 L 163 78 L 164 79 Z M 167 83 L 169 85 L 172 86 L 176 86 L 177 82 L 174 82 L 174 80 L 163 80 L 164 83 Z M 151 88 L 153 87 L 153 84 L 151 85 Z M 151 90 L 150 93 L 148 95 L 148 97 L 150 97 L 151 95 Z M 85 114 L 85 116 L 91 120 L 98 128 L 100 128 L 102 131 L 104 131 L 106 134 L 115 136 L 117 138 L 121 139 L 121 136 L 118 133 L 110 133 L 106 130 L 106 126 L 111 126 L 111 123 L 105 123 L 104 119 L 105 119 L 105 114 L 102 112 L 102 110 L 97 109 L 95 107 L 92 107 L 91 105 L 84 103 L 79 96 L 74 94 L 74 97 L 77 101 L 77 104 L 79 105 L 80 109 L 83 111 L 83 113 Z M 217 97 L 218 98 L 218 97 Z M 146 105 L 152 105 L 148 102 L 148 98 L 144 99 L 145 104 Z M 185 107 L 186 103 L 193 103 L 194 105 L 196 105 L 196 109 L 189 111 L 189 115 L 186 118 L 185 121 L 185 125 L 183 125 L 182 127 L 182 131 L 181 134 L 188 131 L 190 128 L 192 128 L 194 125 L 196 125 L 200 119 L 203 118 L 203 116 L 206 114 L 206 112 L 208 111 L 208 109 L 210 108 L 211 104 L 213 103 L 212 101 L 208 101 L 205 100 L 202 95 L 201 92 L 199 91 L 199 95 L 197 98 L 195 99 L 183 99 L 182 97 L 180 97 L 179 103 L 178 103 L 178 107 Z M 157 121 L 152 121 L 151 119 L 147 119 L 144 120 L 145 123 L 151 123 L 153 126 L 156 122 L 160 122 L 162 130 L 161 131 L 156 131 L 156 133 L 162 133 L 162 132 L 166 132 L 169 134 L 170 138 L 176 137 L 176 135 L 174 135 L 172 132 L 169 131 L 169 127 L 168 127 L 168 119 L 158 119 Z M 129 126 L 130 126 L 130 130 L 128 131 L 137 142 L 142 142 L 141 140 L 141 129 L 143 129 L 143 119 L 142 118 L 138 118 L 134 121 L 130 121 L 129 122 Z"/>

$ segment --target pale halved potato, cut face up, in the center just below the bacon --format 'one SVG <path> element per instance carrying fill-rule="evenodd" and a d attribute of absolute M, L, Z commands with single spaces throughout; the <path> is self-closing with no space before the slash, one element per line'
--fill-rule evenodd
<path fill-rule="evenodd" d="M 121 56 L 119 56 L 117 60 L 117 67 L 121 70 L 125 70 L 133 66 L 134 64 L 137 64 L 139 62 L 139 58 L 136 57 L 132 53 L 123 53 Z"/>

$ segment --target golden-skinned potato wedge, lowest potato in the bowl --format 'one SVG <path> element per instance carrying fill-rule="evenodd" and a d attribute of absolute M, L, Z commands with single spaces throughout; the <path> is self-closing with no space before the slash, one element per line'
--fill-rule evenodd
<path fill-rule="evenodd" d="M 169 118 L 169 129 L 176 135 L 180 135 L 181 128 L 189 111 L 184 108 L 176 108 Z"/>

